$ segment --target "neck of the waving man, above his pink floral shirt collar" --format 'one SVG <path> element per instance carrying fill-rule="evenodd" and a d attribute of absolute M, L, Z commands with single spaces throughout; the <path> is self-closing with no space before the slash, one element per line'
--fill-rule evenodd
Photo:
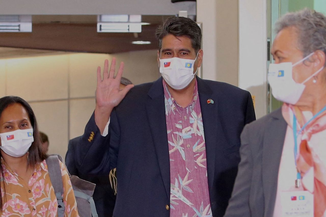
<path fill-rule="evenodd" d="M 190 82 L 190 84 L 182 90 L 174 90 L 168 85 L 168 90 L 174 100 L 180 105 L 182 108 L 187 107 L 193 98 L 194 88 L 196 83 L 196 77 Z"/>

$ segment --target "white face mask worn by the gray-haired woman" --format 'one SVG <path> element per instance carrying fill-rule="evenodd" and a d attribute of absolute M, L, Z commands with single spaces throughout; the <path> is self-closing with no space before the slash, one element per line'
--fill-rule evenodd
<path fill-rule="evenodd" d="M 324 67 L 321 67 L 317 72 L 309 76 L 304 82 L 296 83 L 292 78 L 292 67 L 298 65 L 304 60 L 308 59 L 314 52 L 299 60 L 292 65 L 290 62 L 269 64 L 268 67 L 268 82 L 272 87 L 272 94 L 275 99 L 295 105 L 302 93 L 304 92 L 305 85 L 308 80 L 317 75 Z"/>

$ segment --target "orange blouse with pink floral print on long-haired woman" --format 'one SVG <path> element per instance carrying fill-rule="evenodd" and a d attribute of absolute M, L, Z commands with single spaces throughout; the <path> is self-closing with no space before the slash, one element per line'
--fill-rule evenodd
<path fill-rule="evenodd" d="M 0 210 L 1 217 L 58 216 L 58 203 L 45 160 L 36 166 L 28 183 L 13 172 L 2 158 L 1 164 L 5 177 L 3 179 L 0 173 L 3 201 L 2 211 Z M 61 162 L 60 167 L 64 185 L 65 217 L 76 217 L 78 216 L 77 204 L 69 175 L 65 165 Z"/>

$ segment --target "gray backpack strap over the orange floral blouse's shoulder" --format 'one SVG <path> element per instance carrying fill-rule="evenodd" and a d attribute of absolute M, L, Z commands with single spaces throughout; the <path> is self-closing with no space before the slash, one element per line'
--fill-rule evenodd
<path fill-rule="evenodd" d="M 50 180 L 58 202 L 58 217 L 64 217 L 65 205 L 63 203 L 63 182 L 59 158 L 57 155 L 50 155 L 46 160 Z"/>

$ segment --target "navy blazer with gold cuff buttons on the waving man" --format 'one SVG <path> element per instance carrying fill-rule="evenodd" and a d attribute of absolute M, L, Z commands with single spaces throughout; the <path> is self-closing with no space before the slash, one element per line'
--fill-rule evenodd
<path fill-rule="evenodd" d="M 237 175 L 240 134 L 245 124 L 256 119 L 255 112 L 248 91 L 196 79 L 211 208 L 213 216 L 220 217 L 228 206 Z M 207 99 L 214 100 L 214 104 L 208 104 Z M 101 136 L 93 113 L 77 147 L 76 159 L 83 173 L 108 173 L 117 167 L 113 216 L 169 217 L 170 158 L 162 78 L 128 92 L 111 113 L 108 136 Z"/>

